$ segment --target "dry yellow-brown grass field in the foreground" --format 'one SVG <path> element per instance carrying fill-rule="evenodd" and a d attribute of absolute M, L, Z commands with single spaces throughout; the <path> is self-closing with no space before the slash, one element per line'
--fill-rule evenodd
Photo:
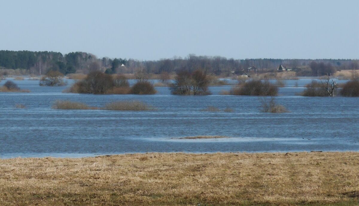
<path fill-rule="evenodd" d="M 0 160 L 0 205 L 358 205 L 358 152 Z"/>

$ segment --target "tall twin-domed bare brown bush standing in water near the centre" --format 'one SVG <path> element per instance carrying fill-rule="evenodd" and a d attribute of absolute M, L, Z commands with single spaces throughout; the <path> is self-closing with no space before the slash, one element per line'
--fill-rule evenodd
<path fill-rule="evenodd" d="M 193 73 L 182 70 L 177 73 L 170 89 L 173 95 L 209 95 L 208 85 L 209 79 L 202 70 Z"/>

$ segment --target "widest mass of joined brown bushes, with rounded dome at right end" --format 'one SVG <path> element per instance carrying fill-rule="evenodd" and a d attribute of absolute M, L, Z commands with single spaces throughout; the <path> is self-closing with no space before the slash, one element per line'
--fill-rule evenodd
<path fill-rule="evenodd" d="M 91 72 L 86 78 L 76 82 L 65 92 L 90 93 L 90 94 L 154 94 L 156 90 L 153 84 L 146 79 L 139 79 L 134 86 L 129 87 L 129 82 L 124 75 L 114 75 L 99 71 Z"/>

